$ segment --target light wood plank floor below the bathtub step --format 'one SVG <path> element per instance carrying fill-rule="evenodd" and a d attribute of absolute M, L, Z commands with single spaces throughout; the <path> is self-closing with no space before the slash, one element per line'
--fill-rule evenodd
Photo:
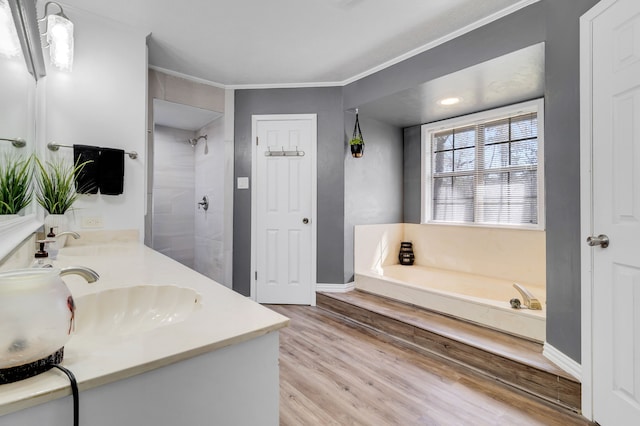
<path fill-rule="evenodd" d="M 588 425 L 317 307 L 270 305 L 280 332 L 281 425 Z"/>

